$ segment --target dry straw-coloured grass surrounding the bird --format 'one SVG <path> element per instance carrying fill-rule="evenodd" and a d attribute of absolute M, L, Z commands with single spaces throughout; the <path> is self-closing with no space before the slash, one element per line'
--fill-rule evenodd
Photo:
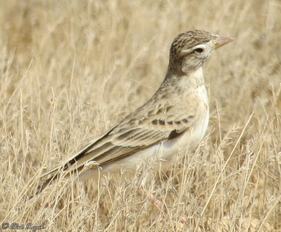
<path fill-rule="evenodd" d="M 280 231 L 281 3 L 1 1 L 0 223 L 46 231 Z M 147 186 L 137 178 L 57 187 L 25 202 L 38 176 L 142 105 L 174 37 L 236 40 L 204 65 L 211 121 L 195 153 Z M 253 114 L 252 114 L 253 113 Z"/>

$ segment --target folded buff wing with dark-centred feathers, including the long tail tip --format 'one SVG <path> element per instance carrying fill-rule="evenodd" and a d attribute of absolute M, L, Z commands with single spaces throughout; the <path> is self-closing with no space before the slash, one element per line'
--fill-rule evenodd
<path fill-rule="evenodd" d="M 44 174 L 43 176 L 52 173 L 54 175 L 46 180 L 39 192 L 57 179 L 59 171 L 81 170 L 90 161 L 103 165 L 160 141 L 174 139 L 188 129 L 197 118 L 197 106 L 186 110 L 185 105 L 175 106 L 168 103 L 156 107 L 153 105 L 151 102 L 143 105 L 105 134 L 88 143 L 63 166 Z"/>

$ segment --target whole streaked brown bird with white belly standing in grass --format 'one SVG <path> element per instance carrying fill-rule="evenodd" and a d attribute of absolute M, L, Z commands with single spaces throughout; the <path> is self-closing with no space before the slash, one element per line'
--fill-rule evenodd
<path fill-rule="evenodd" d="M 41 178 L 51 176 L 35 195 L 51 188 L 60 176 L 85 181 L 116 175 L 120 170 L 132 176 L 139 164 L 147 164 L 155 156 L 159 159 L 151 171 L 159 167 L 167 169 L 175 162 L 179 148 L 198 147 L 209 122 L 202 66 L 214 50 L 233 40 L 202 30 L 175 37 L 166 76 L 155 94 L 104 134 L 44 173 Z M 152 195 L 150 199 L 153 200 Z"/>

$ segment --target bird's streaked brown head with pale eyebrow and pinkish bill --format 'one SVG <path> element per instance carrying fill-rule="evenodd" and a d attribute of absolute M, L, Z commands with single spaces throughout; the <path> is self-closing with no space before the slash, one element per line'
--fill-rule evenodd
<path fill-rule="evenodd" d="M 202 66 L 211 53 L 234 40 L 207 31 L 187 31 L 179 34 L 170 49 L 169 71 L 188 73 Z"/>

